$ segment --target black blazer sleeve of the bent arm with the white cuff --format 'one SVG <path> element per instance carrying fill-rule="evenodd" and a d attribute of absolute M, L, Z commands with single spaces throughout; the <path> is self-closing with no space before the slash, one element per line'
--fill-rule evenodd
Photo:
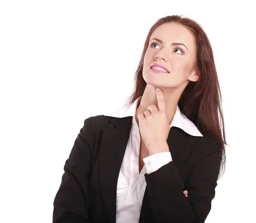
<path fill-rule="evenodd" d="M 221 165 L 221 147 L 208 145 L 186 178 L 184 184 L 173 161 L 151 174 L 145 174 L 148 193 L 157 223 L 204 223 L 215 197 L 215 187 Z M 204 151 L 204 150 L 203 150 Z"/>

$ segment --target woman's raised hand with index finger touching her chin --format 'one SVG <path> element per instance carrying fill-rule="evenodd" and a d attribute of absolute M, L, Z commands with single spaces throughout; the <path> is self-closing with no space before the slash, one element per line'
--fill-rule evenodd
<path fill-rule="evenodd" d="M 160 152 L 169 152 L 167 138 L 170 125 L 167 121 L 165 101 L 162 90 L 157 87 L 158 110 L 154 104 L 148 106 L 144 113 L 138 114 L 140 135 L 149 151 L 149 155 Z M 144 114 L 144 116 L 143 116 Z"/>

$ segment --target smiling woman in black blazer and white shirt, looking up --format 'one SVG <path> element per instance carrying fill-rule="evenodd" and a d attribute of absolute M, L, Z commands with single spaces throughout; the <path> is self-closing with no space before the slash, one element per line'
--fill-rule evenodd
<path fill-rule="evenodd" d="M 53 222 L 202 223 L 225 145 L 209 40 L 195 21 L 163 17 L 148 33 L 128 104 L 85 119 Z"/>

